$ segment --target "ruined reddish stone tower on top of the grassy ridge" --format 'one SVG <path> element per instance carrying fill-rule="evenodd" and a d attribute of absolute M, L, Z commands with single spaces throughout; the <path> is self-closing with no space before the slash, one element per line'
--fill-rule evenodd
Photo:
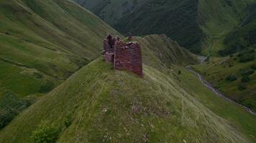
<path fill-rule="evenodd" d="M 113 64 L 114 69 L 132 71 L 143 77 L 142 52 L 137 42 L 125 43 L 119 38 L 112 39 L 112 36 L 108 35 L 104 39 L 103 56 L 107 63 Z"/>

